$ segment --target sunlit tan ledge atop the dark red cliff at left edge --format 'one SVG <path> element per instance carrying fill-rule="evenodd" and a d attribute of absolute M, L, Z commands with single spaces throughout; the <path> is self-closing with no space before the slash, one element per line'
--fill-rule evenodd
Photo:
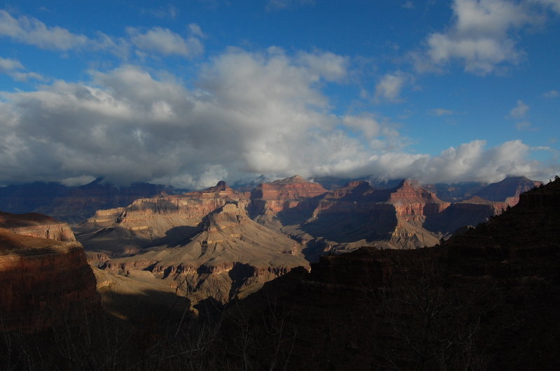
<path fill-rule="evenodd" d="M 66 223 L 42 214 L 10 214 L 0 211 L 0 228 L 9 229 L 19 235 L 56 241 L 76 241 Z"/>

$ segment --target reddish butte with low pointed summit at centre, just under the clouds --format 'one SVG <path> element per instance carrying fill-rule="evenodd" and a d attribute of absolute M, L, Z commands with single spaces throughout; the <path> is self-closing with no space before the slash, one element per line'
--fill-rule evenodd
<path fill-rule="evenodd" d="M 326 193 L 319 183 L 306 181 L 299 175 L 271 183 L 261 183 L 251 192 L 251 215 L 277 214 L 296 207 L 302 200 Z"/>

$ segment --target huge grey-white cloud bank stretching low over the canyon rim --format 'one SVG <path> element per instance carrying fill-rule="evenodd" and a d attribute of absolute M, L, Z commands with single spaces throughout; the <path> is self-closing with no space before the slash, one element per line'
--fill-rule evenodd
<path fill-rule="evenodd" d="M 325 68 L 336 60 L 344 64 L 328 53 L 231 48 L 202 67 L 194 88 L 125 65 L 87 83 L 4 92 L 0 183 L 105 176 L 202 188 L 255 174 L 493 181 L 553 173 L 527 160 L 521 141 L 473 141 L 433 157 L 402 151 L 398 125 L 333 113 L 321 89 L 344 78 L 344 69 Z"/>

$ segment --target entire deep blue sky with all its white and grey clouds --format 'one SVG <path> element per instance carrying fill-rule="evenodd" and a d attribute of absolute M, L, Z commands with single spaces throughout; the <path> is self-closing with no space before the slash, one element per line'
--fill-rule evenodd
<path fill-rule="evenodd" d="M 560 0 L 1 1 L 0 184 L 560 173 Z"/>

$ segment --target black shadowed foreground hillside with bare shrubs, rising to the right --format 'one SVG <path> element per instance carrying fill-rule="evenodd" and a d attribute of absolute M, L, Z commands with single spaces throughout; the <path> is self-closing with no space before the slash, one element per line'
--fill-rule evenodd
<path fill-rule="evenodd" d="M 560 180 L 433 248 L 325 256 L 232 302 L 0 337 L 6 369 L 557 370 Z M 150 293 L 145 293 L 147 296 Z M 122 299 L 122 298 L 121 298 Z M 183 300 L 184 301 L 184 300 Z M 188 300 L 187 300 L 188 301 Z M 183 316 L 183 314 L 185 314 Z"/>

